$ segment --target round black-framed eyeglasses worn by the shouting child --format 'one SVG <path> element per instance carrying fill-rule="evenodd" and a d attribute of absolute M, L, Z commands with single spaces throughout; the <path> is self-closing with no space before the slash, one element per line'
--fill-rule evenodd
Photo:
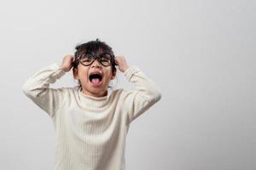
<path fill-rule="evenodd" d="M 96 59 L 103 66 L 109 66 L 113 62 L 113 55 L 108 53 L 102 53 L 100 54 L 100 56 L 95 56 L 93 54 L 81 54 L 79 56 L 80 63 L 84 66 L 91 65 Z"/>

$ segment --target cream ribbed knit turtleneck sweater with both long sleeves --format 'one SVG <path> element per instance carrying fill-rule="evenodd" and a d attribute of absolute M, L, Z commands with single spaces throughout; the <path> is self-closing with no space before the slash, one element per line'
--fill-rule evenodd
<path fill-rule="evenodd" d="M 160 88 L 137 66 L 125 78 L 136 90 L 115 89 L 93 97 L 73 88 L 49 88 L 65 75 L 60 65 L 44 67 L 22 90 L 43 109 L 55 128 L 55 170 L 125 169 L 125 138 L 133 120 L 161 98 Z"/>

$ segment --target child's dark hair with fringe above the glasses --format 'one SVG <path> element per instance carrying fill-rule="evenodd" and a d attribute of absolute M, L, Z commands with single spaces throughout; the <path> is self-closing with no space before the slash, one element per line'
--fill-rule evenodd
<path fill-rule="evenodd" d="M 90 53 L 98 56 L 99 54 L 102 54 L 102 53 L 109 53 L 113 56 L 112 64 L 111 64 L 112 71 L 116 71 L 116 67 L 115 67 L 116 64 L 114 61 L 113 50 L 110 46 L 108 46 L 106 42 L 102 42 L 98 38 L 96 38 L 96 41 L 90 41 L 90 42 L 79 44 L 75 47 L 75 49 L 76 51 L 74 54 L 73 69 L 76 69 L 76 70 L 78 69 L 80 54 Z M 81 87 L 81 82 L 79 82 L 79 86 Z M 111 88 L 111 87 L 108 87 L 108 88 Z"/>

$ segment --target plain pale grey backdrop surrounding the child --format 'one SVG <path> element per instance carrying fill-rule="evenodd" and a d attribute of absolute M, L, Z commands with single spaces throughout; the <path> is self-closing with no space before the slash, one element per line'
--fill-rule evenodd
<path fill-rule="evenodd" d="M 28 77 L 99 38 L 162 99 L 127 135 L 128 170 L 256 169 L 253 0 L 1 1 L 0 169 L 54 168 L 49 116 Z M 119 72 L 115 88 L 133 88 Z M 52 87 L 77 85 L 69 72 Z"/>

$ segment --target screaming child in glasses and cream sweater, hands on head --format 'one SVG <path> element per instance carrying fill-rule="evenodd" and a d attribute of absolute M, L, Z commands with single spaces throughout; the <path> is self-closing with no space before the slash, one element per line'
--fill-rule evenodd
<path fill-rule="evenodd" d="M 23 85 L 26 96 L 43 109 L 55 127 L 55 170 L 125 169 L 125 138 L 133 120 L 161 98 L 158 86 L 125 58 L 98 39 L 76 47 L 62 64 L 38 71 Z M 115 66 L 137 89 L 116 89 L 108 83 Z M 49 88 L 73 68 L 79 86 Z"/>

